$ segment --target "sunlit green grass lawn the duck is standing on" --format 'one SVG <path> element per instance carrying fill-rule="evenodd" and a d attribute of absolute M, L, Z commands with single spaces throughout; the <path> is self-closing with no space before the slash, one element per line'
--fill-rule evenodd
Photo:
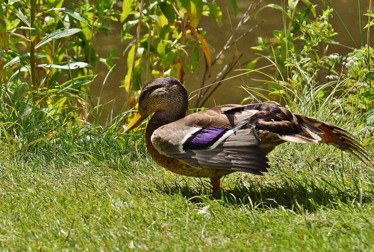
<path fill-rule="evenodd" d="M 373 133 L 355 134 L 373 153 Z M 82 126 L 3 141 L 1 251 L 374 251 L 373 168 L 334 147 L 283 144 L 266 175 L 230 174 L 217 199 L 131 136 Z"/>

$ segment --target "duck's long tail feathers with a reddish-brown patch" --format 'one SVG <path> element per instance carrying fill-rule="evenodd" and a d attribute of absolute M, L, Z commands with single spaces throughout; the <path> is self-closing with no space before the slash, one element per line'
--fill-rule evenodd
<path fill-rule="evenodd" d="M 309 116 L 300 114 L 295 114 L 295 116 L 301 122 L 302 127 L 309 129 L 321 137 L 319 142 L 333 145 L 349 153 L 350 155 L 355 156 L 362 162 L 368 161 L 371 164 L 373 163 L 367 149 L 365 149 L 365 147 L 358 142 L 360 140 L 350 134 L 348 131 L 334 124 L 330 124 Z"/>

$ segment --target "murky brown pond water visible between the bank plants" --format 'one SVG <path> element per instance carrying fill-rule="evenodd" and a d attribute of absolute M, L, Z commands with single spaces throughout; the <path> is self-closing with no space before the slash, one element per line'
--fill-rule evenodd
<path fill-rule="evenodd" d="M 352 0 L 331 0 L 332 4 L 334 5 L 336 11 L 339 13 L 341 19 L 343 19 L 344 24 L 352 34 L 353 38 L 355 39 L 357 44 L 360 44 L 361 37 L 360 37 L 360 29 L 359 29 L 359 16 L 358 16 L 358 1 Z M 250 1 L 243 1 L 237 0 L 239 13 L 235 18 L 232 7 L 230 6 L 229 1 L 218 0 L 217 4 L 221 7 L 223 12 L 223 21 L 222 24 L 217 24 L 215 22 L 215 18 L 203 16 L 200 27 L 207 31 L 205 38 L 209 44 L 214 48 L 212 51 L 212 59 L 220 52 L 223 46 L 226 44 L 226 41 L 230 38 L 232 34 L 232 29 L 230 26 L 230 19 L 233 26 L 233 29 L 236 27 L 240 19 L 242 18 L 245 11 L 248 9 Z M 272 1 L 263 1 L 261 6 L 264 6 L 269 3 L 276 3 L 282 4 L 281 0 L 272 0 Z M 303 3 L 300 3 L 302 6 Z M 302 6 L 304 7 L 304 6 Z M 362 13 L 366 13 L 369 8 L 369 1 L 362 1 Z M 322 2 L 318 2 L 317 16 L 322 15 L 322 9 L 326 9 L 322 5 Z M 255 12 L 254 12 L 255 13 Z M 264 22 L 254 31 L 250 32 L 246 35 L 245 38 L 238 41 L 236 44 L 237 52 L 243 54 L 240 62 L 248 62 L 252 59 L 258 57 L 255 53 L 259 53 L 260 51 L 250 49 L 252 46 L 258 45 L 258 37 L 268 37 L 272 38 L 272 32 L 275 29 L 282 29 L 283 27 L 283 18 L 282 13 L 279 10 L 266 8 L 261 10 L 254 19 L 254 13 L 252 13 L 251 20 L 249 20 L 245 25 L 243 25 L 238 35 L 243 34 L 244 32 L 248 31 L 256 24 L 258 24 L 261 20 Z M 230 18 L 229 18 L 230 17 Z M 362 20 L 363 24 L 367 24 L 368 17 L 364 16 Z M 328 47 L 327 55 L 331 53 L 339 53 L 340 55 L 345 55 L 348 52 L 352 52 L 352 49 L 347 47 L 354 47 L 352 41 L 350 40 L 347 32 L 345 31 L 343 25 L 340 23 L 336 15 L 333 15 L 330 18 L 330 23 L 334 28 L 335 32 L 338 32 L 338 35 L 334 37 L 335 41 L 338 41 L 341 45 L 332 45 L 330 44 Z M 111 50 L 114 48 L 118 49 L 117 56 L 120 57 L 118 60 L 113 60 L 116 63 L 116 72 L 111 72 L 108 75 L 107 81 L 104 85 L 103 92 L 101 94 L 101 103 L 109 102 L 110 100 L 115 100 L 114 104 L 110 103 L 104 107 L 101 113 L 101 118 L 103 121 L 106 121 L 108 115 L 112 113 L 113 116 L 117 115 L 123 106 L 126 103 L 127 93 L 125 88 L 119 88 L 122 84 L 122 81 L 125 78 L 125 74 L 127 73 L 127 64 L 126 64 L 126 56 L 123 56 L 122 53 L 125 50 L 125 46 L 123 45 L 120 35 L 121 35 L 121 28 L 122 23 L 118 22 L 111 22 L 110 30 L 111 33 L 108 37 L 105 37 L 103 34 L 96 35 L 96 43 L 95 49 L 96 52 L 100 56 L 107 56 Z M 364 30 L 364 39 L 366 41 L 366 32 Z M 374 37 L 374 36 L 372 36 Z M 130 40 L 127 40 L 126 43 L 129 43 Z M 295 45 L 301 48 L 303 45 Z M 236 55 L 235 47 L 231 47 L 227 50 L 222 60 L 219 60 L 213 67 L 212 67 L 212 77 L 206 81 L 206 83 L 212 83 L 215 79 L 215 76 L 222 70 L 225 64 L 231 62 L 233 56 Z M 200 62 L 203 62 L 203 55 L 200 55 Z M 266 61 L 258 62 L 257 66 L 268 64 Z M 246 65 L 243 64 L 242 68 L 245 68 Z M 200 70 L 198 74 L 193 73 L 189 74 L 186 73 L 185 75 L 185 84 L 189 91 L 196 90 L 200 87 L 202 78 L 203 78 L 203 70 L 204 66 L 200 63 Z M 238 72 L 232 72 L 231 75 L 236 75 Z M 104 82 L 104 78 L 108 74 L 108 69 L 106 66 L 100 64 L 98 67 L 98 77 L 95 78 L 91 85 L 91 93 L 94 97 L 98 97 L 102 83 Z M 248 86 L 248 87 L 259 87 L 259 88 L 266 88 L 267 86 L 260 80 L 267 80 L 266 77 L 259 74 L 252 74 L 251 78 L 248 78 L 244 75 L 244 77 L 235 77 L 231 80 L 225 81 L 217 90 L 213 93 L 212 97 L 209 97 L 209 100 L 205 104 L 205 107 L 211 107 L 215 105 L 223 105 L 228 103 L 240 103 L 245 97 L 248 96 L 248 93 L 240 88 L 240 86 Z M 145 82 L 145 81 L 144 81 Z M 146 83 L 142 83 L 145 85 Z M 190 101 L 190 108 L 194 108 L 196 100 Z M 251 101 L 249 101 L 251 102 Z"/>

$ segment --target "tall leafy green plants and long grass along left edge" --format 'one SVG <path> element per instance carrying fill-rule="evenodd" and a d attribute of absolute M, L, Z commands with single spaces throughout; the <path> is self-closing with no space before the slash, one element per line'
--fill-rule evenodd
<path fill-rule="evenodd" d="M 5 143 L 32 149 L 46 146 L 60 127 L 89 124 L 88 118 L 97 125 L 101 105 L 92 104 L 90 85 L 100 61 L 115 70 L 115 50 L 99 58 L 93 44 L 97 32 L 109 31 L 107 20 L 120 15 L 115 3 L 1 2 L 0 138 Z"/>

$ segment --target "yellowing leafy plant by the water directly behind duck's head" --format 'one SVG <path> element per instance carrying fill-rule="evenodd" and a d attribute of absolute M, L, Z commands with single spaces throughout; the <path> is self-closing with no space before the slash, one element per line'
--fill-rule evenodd
<path fill-rule="evenodd" d="M 237 15 L 236 1 L 231 1 L 231 4 Z M 249 13 L 254 9 L 251 4 L 239 27 L 248 21 Z M 131 20 L 130 15 L 133 15 Z M 183 83 L 186 73 L 196 74 L 199 62 L 205 62 L 202 78 L 202 87 L 205 87 L 206 78 L 211 75 L 211 66 L 217 59 L 212 60 L 211 46 L 204 37 L 206 31 L 199 28 L 204 16 L 214 16 L 216 22 L 221 22 L 222 12 L 215 1 L 166 0 L 150 1 L 149 4 L 144 1 L 124 1 L 121 21 L 126 22 L 123 24 L 122 39 L 127 46 L 125 52 L 128 53 L 129 67 L 122 87 L 129 93 L 128 109 L 135 106 L 138 93 L 134 95 L 134 91 L 141 89 L 142 81 L 174 76 Z M 137 27 L 136 32 L 133 27 Z M 128 43 L 128 40 L 131 42 Z M 229 42 L 224 50 L 234 43 L 233 38 Z M 204 61 L 201 60 L 201 52 Z M 234 68 L 234 62 L 229 68 L 223 69 L 224 74 L 221 72 L 223 76 L 219 77 L 224 78 Z M 216 80 L 219 79 L 217 76 Z M 203 105 L 206 96 L 209 93 L 199 92 L 196 108 Z"/>

